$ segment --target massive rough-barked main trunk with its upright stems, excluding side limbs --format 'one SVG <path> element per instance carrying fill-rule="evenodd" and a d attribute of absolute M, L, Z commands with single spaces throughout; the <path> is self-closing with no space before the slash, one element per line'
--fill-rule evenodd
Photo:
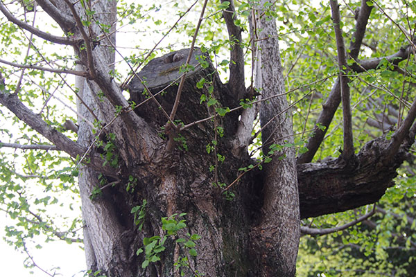
<path fill-rule="evenodd" d="M 103 2 L 102 5 L 106 6 L 102 7 L 103 11 L 115 8 L 115 2 L 112 1 Z M 106 15 L 110 13 L 101 15 L 101 23 L 111 24 L 115 21 L 114 17 Z M 273 21 L 266 23 L 262 17 L 259 23 L 262 28 L 260 36 L 275 35 Z M 101 30 L 93 28 L 92 32 L 97 35 Z M 112 40 L 114 43 L 114 37 Z M 281 66 L 276 66 L 280 64 L 277 39 L 265 39 L 259 48 L 262 63 L 257 67 L 260 78 L 257 86 L 263 89 L 263 97 L 283 92 Z M 93 54 L 97 59 L 97 72 L 110 73 L 112 68 L 107 64 L 113 64 L 114 53 L 109 48 L 97 45 Z M 159 59 L 166 62 L 168 57 Z M 160 79 L 160 74 L 167 72 L 170 75 L 173 71 L 179 71 L 178 66 L 171 66 L 168 71 L 153 71 L 159 74 Z M 83 69 L 87 70 L 85 65 Z M 210 94 L 206 87 L 195 89 L 200 76 L 194 78 L 189 73 L 189 89 L 182 92 L 177 112 L 177 118 L 184 123 L 214 115 L 214 107 L 200 102 L 202 93 L 218 100 L 219 105 L 227 101 L 223 99 L 225 96 L 230 95 L 216 74 L 209 75 L 207 71 L 202 73 L 207 75 L 207 80 L 212 78 L 214 93 Z M 108 85 L 103 86 L 106 82 Z M 90 122 L 96 119 L 103 125 L 113 122 L 99 133 L 98 141 L 104 145 L 114 143 L 114 152 L 119 155 L 116 176 L 104 176 L 87 167 L 80 172 L 88 268 L 93 273 L 101 271 L 101 274 L 109 277 L 180 276 L 180 270 L 184 270 L 187 276 L 196 271 L 212 277 L 293 275 L 299 240 L 299 204 L 293 150 L 288 148 L 282 153 L 275 153 L 272 162 L 261 172 L 262 177 L 259 172 L 252 170 L 239 179 L 229 189 L 229 193 L 235 196 L 227 200 L 220 186 L 232 184 L 241 173 L 239 168 L 252 163 L 247 153 L 232 152 L 235 138 L 229 126 L 234 126 L 235 122 L 228 122 L 227 117 L 214 116 L 212 120 L 181 131 L 177 138 L 184 139 L 169 149 L 166 147 L 168 143 L 156 133 L 161 132 L 161 127 L 167 121 L 162 109 L 170 111 L 172 99 L 175 98 L 175 86 L 163 96 L 157 96 L 159 104 L 152 98 L 138 107 L 137 114 L 146 120 L 146 124 L 140 119 L 137 122 L 143 123 L 144 127 L 137 125 L 137 129 L 131 129 L 131 126 L 126 126 L 123 114 L 112 121 L 116 115 L 114 103 L 100 96 L 101 91 L 105 92 L 112 85 L 110 82 L 77 82 L 83 98 L 83 103 L 78 105 L 80 114 Z M 146 82 L 150 84 L 150 79 Z M 155 85 L 150 91 L 155 93 L 157 89 L 159 87 Z M 132 99 L 137 104 L 145 100 Z M 261 109 L 263 143 L 266 147 L 270 146 L 270 142 L 282 143 L 279 136 L 290 137 L 292 134 L 290 116 L 281 113 L 287 107 L 286 99 L 280 97 L 273 98 L 270 105 Z M 266 125 L 276 115 L 277 118 Z M 81 118 L 79 125 L 78 142 L 89 148 L 96 141 L 97 134 Z M 221 138 L 217 127 L 225 129 Z M 116 134 L 114 141 L 109 139 L 110 134 Z M 141 140 L 146 141 L 146 148 L 141 147 Z M 215 151 L 207 152 L 207 145 L 214 146 L 214 140 L 217 141 Z M 92 151 L 100 152 L 103 149 L 93 145 Z M 225 160 L 218 161 L 217 154 L 225 157 Z M 278 159 L 282 154 L 285 158 Z M 213 166 L 215 169 L 210 170 Z M 254 176 L 256 174 L 259 176 Z M 132 182 L 132 179 L 135 181 Z M 128 186 L 131 186 L 130 189 L 127 189 Z M 102 188 L 97 197 L 91 197 L 94 188 Z M 141 205 L 144 199 L 148 203 L 146 217 L 143 229 L 139 229 L 130 211 Z M 140 248 L 144 249 L 144 238 L 166 235 L 161 218 L 179 213 L 187 213 L 183 217 L 187 227 L 179 231 L 175 239 L 169 237 L 164 242 L 166 249 L 158 254 L 160 261 L 150 262 L 146 268 L 142 268 L 145 255 L 137 255 L 136 252 Z M 187 238 L 186 233 L 201 236 L 196 242 L 196 257 L 190 256 L 183 244 L 175 242 L 177 238 Z M 175 263 L 183 258 L 188 259 L 188 265 L 177 269 Z"/>

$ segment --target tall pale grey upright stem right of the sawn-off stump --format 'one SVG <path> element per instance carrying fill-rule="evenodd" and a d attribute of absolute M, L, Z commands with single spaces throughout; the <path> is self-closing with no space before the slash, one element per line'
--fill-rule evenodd
<path fill-rule="evenodd" d="M 267 1 L 260 1 L 265 7 Z M 263 98 L 285 92 L 275 19 L 264 11 L 254 17 L 257 27 L 256 87 Z M 259 259 L 259 276 L 294 276 L 300 239 L 299 195 L 293 148 L 277 151 L 274 145 L 293 143 L 291 109 L 286 95 L 261 105 L 263 154 L 272 157 L 264 169 L 261 222 L 251 235 Z"/>

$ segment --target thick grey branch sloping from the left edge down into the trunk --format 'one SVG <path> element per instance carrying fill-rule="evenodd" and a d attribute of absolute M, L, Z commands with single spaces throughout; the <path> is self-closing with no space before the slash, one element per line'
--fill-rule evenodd
<path fill-rule="evenodd" d="M 67 152 L 71 157 L 77 158 L 83 156 L 85 149 L 78 143 L 71 141 L 67 136 L 58 132 L 53 127 L 42 120 L 41 116 L 33 113 L 22 102 L 19 101 L 16 94 L 5 93 L 0 91 L 0 103 L 7 107 L 13 114 L 15 114 L 20 120 L 23 120 L 26 124 L 31 126 L 37 132 L 42 134 L 46 139 L 49 139 L 59 150 Z M 103 167 L 103 160 L 94 155 L 89 155 L 89 166 L 94 170 L 103 172 L 109 176 L 115 176 L 114 168 Z"/>

